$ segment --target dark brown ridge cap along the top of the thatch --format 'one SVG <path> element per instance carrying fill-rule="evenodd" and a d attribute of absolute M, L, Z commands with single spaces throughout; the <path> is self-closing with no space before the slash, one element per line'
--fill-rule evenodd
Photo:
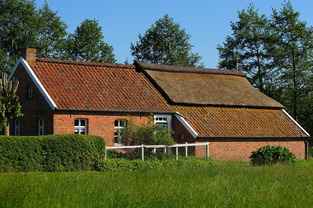
<path fill-rule="evenodd" d="M 216 75 L 231 75 L 231 76 L 237 76 L 237 77 L 247 77 L 243 72 L 239 70 L 171 66 L 171 65 L 163 65 L 163 64 L 144 63 L 144 62 L 138 62 L 138 61 L 135 61 L 133 65 L 136 66 L 136 69 L 139 69 L 139 71 L 150 70 L 150 71 L 158 71 L 158 72 L 216 74 Z"/>

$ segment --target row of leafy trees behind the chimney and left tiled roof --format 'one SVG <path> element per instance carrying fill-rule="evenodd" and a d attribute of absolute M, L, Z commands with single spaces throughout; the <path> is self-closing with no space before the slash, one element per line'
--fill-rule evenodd
<path fill-rule="evenodd" d="M 38 57 L 116 62 L 113 47 L 103 41 L 98 21 L 85 19 L 73 34 L 48 3 L 0 0 L 0 67 L 10 73 L 21 49 L 36 48 Z"/>

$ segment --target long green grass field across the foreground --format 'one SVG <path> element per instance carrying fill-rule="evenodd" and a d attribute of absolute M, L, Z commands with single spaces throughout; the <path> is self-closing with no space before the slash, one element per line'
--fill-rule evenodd
<path fill-rule="evenodd" d="M 313 160 L 157 171 L 0 174 L 1 207 L 313 207 Z"/>

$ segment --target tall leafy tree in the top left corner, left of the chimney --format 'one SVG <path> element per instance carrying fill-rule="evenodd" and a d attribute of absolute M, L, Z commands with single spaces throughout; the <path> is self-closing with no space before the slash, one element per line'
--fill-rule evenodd
<path fill-rule="evenodd" d="M 34 47 L 38 36 L 37 12 L 33 0 L 0 0 L 0 63 L 11 72 L 21 49 Z"/>

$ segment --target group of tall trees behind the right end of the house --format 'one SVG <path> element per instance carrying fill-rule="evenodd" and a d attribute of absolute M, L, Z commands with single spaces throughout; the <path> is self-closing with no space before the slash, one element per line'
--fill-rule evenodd
<path fill-rule="evenodd" d="M 313 28 L 299 20 L 290 2 L 270 17 L 250 4 L 231 22 L 233 34 L 218 45 L 218 68 L 245 72 L 249 82 L 286 107 L 313 134 Z"/>

